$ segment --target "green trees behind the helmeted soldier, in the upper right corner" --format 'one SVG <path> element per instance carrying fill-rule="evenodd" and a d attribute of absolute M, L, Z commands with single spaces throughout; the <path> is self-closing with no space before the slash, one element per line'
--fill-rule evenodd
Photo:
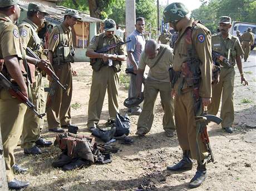
<path fill-rule="evenodd" d="M 191 16 L 199 19 L 216 33 L 219 17 L 229 16 L 232 21 L 256 23 L 256 1 L 254 0 L 202 0 L 202 5 L 192 11 Z"/>

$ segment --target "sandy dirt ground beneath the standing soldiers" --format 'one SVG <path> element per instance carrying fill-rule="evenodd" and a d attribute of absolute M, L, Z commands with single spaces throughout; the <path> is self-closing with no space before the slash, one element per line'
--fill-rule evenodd
<path fill-rule="evenodd" d="M 88 100 L 92 70 L 89 63 L 74 64 L 78 76 L 73 78 L 72 123 L 79 126 L 80 134 L 90 134 L 86 128 Z M 208 177 L 201 187 L 194 190 L 256 190 L 256 121 L 255 121 L 255 68 L 245 70 L 249 87 L 240 85 L 238 69 L 235 76 L 235 132 L 224 133 L 220 125 L 210 124 L 209 135 L 215 158 L 209 163 Z M 127 97 L 127 78 L 121 74 L 120 113 L 125 114 L 122 104 Z M 101 124 L 105 123 L 107 96 L 102 109 Z M 137 137 L 138 116 L 130 116 L 133 145 L 114 143 L 120 151 L 112 154 L 112 163 L 91 165 L 71 172 L 63 172 L 51 166 L 60 154 L 60 149 L 51 146 L 42 148 L 43 154 L 25 156 L 23 149 L 16 149 L 17 163 L 29 168 L 28 173 L 16 178 L 28 180 L 31 185 L 26 190 L 188 190 L 188 183 L 196 172 L 196 162 L 192 170 L 174 173 L 166 170 L 166 165 L 177 163 L 182 151 L 178 139 L 165 136 L 162 127 L 163 109 L 160 98 L 156 100 L 154 123 L 151 132 L 144 138 Z M 47 127 L 47 123 L 45 123 Z M 55 133 L 43 129 L 42 136 L 55 140 Z"/>

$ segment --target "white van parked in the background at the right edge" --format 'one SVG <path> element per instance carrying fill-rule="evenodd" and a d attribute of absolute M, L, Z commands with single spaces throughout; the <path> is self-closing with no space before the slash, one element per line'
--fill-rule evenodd
<path fill-rule="evenodd" d="M 240 22 L 240 21 L 233 21 L 232 27 L 231 27 L 229 33 L 236 37 L 237 31 L 240 31 L 240 33 L 242 35 L 243 33 L 245 33 L 247 31 L 248 27 L 252 28 L 252 32 L 254 33 L 254 44 L 251 46 L 251 49 L 253 49 L 256 46 L 256 24 Z"/>

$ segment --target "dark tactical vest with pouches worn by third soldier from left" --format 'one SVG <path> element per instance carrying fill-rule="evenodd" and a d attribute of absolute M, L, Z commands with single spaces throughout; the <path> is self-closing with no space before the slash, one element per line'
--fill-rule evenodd
<path fill-rule="evenodd" d="M 63 44 L 63 39 L 65 38 L 63 28 L 60 25 L 56 27 L 58 28 L 60 40 L 56 50 L 53 52 L 53 64 L 60 65 L 68 62 L 75 62 L 75 49 L 73 48 L 72 43 L 68 42 L 68 46 Z M 72 41 L 72 39 L 68 39 L 68 41 L 69 40 Z"/>

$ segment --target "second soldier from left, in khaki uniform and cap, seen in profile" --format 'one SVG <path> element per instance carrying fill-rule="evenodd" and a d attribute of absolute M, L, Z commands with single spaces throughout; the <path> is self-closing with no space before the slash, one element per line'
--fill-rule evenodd
<path fill-rule="evenodd" d="M 45 7 L 39 3 L 29 3 L 27 18 L 18 24 L 18 28 L 19 33 L 21 34 L 23 48 L 31 48 L 32 51 L 38 54 L 42 59 L 41 62 L 50 64 L 50 62 L 45 61 L 47 56 L 43 51 L 41 40 L 37 35 L 38 27 L 42 26 L 43 22 L 45 22 L 45 15 L 48 15 Z M 29 66 L 31 67 L 31 71 L 35 71 L 35 74 L 32 77 L 35 79 L 35 82 L 33 82 L 31 88 L 33 104 L 36 106 L 35 109 L 38 113 L 45 113 L 45 91 L 42 71 L 38 66 L 36 69 L 33 68 L 33 65 L 31 64 L 29 64 Z M 27 109 L 24 117 L 21 143 L 21 147 L 24 148 L 25 154 L 41 154 L 41 149 L 36 145 L 50 146 L 52 144 L 52 142 L 46 141 L 40 137 L 40 130 L 43 128 L 43 122 L 44 120 L 38 118 L 31 109 Z"/>

